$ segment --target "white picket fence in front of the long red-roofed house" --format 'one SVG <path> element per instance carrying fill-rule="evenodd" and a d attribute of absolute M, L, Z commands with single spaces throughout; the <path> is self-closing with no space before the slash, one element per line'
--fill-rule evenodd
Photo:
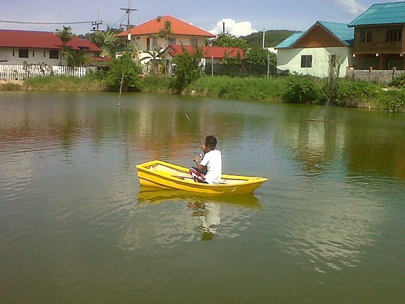
<path fill-rule="evenodd" d="M 11 80 L 24 80 L 29 72 L 29 77 L 48 75 L 69 75 L 83 77 L 86 75 L 88 67 L 61 66 L 61 65 L 31 65 L 25 67 L 22 64 L 0 64 L 0 80 L 6 82 Z"/>

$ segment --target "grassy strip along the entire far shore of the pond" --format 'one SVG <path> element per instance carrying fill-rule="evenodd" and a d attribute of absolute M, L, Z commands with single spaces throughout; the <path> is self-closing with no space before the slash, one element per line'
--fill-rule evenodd
<path fill-rule="evenodd" d="M 146 77 L 141 80 L 142 91 L 172 93 L 172 79 Z M 201 77 L 191 83 L 185 95 L 262 102 L 332 104 L 344 107 L 369 107 L 389 112 L 405 111 L 405 85 L 403 80 L 392 85 L 337 79 L 331 89 L 326 80 L 289 75 L 287 77 L 231 78 Z M 49 76 L 29 79 L 29 90 L 35 91 L 106 91 L 100 75 L 89 74 L 83 78 Z M 0 90 L 25 90 L 26 84 L 2 84 Z"/>

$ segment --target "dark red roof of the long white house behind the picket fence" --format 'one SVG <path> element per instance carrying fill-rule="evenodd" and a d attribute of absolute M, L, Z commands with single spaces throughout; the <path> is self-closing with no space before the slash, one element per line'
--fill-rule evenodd
<path fill-rule="evenodd" d="M 0 29 L 0 47 L 60 49 L 61 45 L 62 41 L 53 32 Z M 73 50 L 85 49 L 90 52 L 101 52 L 92 42 L 76 36 L 66 45 Z"/>

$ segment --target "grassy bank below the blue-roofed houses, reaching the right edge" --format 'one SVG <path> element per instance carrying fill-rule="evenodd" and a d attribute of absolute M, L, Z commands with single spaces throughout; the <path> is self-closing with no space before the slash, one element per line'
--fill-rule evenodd
<path fill-rule="evenodd" d="M 203 77 L 184 92 L 202 97 L 242 100 L 325 104 L 344 107 L 405 111 L 405 87 L 389 87 L 364 81 L 337 79 L 333 88 L 324 79 L 289 75 L 287 77 L 230 78 Z"/>

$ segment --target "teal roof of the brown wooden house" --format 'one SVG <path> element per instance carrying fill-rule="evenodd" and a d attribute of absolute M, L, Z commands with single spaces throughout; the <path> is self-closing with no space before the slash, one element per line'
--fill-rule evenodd
<path fill-rule="evenodd" d="M 405 2 L 379 3 L 372 5 L 349 26 L 405 23 Z"/>

